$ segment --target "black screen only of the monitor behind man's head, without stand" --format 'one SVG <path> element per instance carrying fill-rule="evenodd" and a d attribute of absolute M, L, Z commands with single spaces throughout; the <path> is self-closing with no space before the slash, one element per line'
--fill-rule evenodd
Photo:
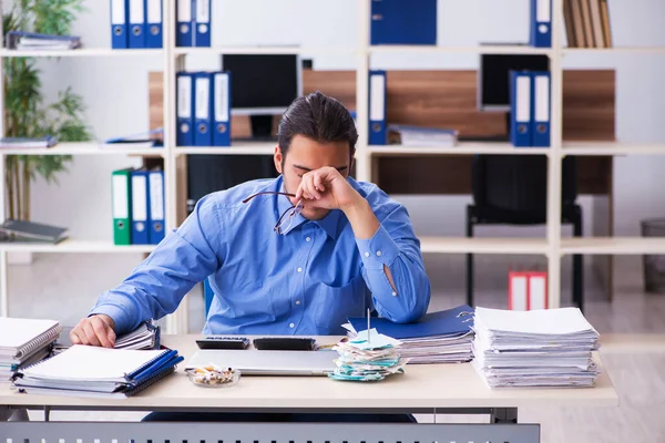
<path fill-rule="evenodd" d="M 296 54 L 225 54 L 232 109 L 283 109 L 300 95 Z"/>

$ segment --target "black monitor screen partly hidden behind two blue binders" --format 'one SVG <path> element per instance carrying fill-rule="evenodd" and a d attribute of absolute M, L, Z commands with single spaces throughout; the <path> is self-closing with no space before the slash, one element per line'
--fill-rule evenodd
<path fill-rule="evenodd" d="M 513 70 L 550 71 L 550 59 L 541 54 L 482 54 L 478 104 L 481 110 L 509 110 L 509 75 Z"/>

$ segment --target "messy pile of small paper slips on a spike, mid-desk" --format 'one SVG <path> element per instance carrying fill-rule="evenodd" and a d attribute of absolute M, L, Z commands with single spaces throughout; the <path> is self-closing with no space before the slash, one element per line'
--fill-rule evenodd
<path fill-rule="evenodd" d="M 335 380 L 377 381 L 403 373 L 408 359 L 399 354 L 399 340 L 383 336 L 376 329 L 364 330 L 358 337 L 337 343 L 337 369 L 328 374 Z"/>

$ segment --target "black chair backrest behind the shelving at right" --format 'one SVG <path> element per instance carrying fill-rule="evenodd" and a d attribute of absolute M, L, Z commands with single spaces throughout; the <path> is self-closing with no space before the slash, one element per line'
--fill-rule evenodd
<path fill-rule="evenodd" d="M 577 199 L 575 157 L 564 157 L 562 168 L 562 205 L 573 205 Z M 523 214 L 546 214 L 548 157 L 545 155 L 477 155 L 472 171 L 475 205 Z"/>

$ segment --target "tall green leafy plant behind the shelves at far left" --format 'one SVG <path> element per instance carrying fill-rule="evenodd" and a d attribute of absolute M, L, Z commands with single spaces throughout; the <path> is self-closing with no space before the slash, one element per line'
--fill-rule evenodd
<path fill-rule="evenodd" d="M 17 0 L 3 12 L 2 29 L 66 35 L 75 13 L 83 11 L 83 0 Z M 83 142 L 92 138 L 83 121 L 85 106 L 70 87 L 59 93 L 58 101 L 44 103 L 40 71 L 33 58 L 4 59 L 4 135 L 40 137 L 53 135 L 59 142 Z M 30 219 L 30 185 L 38 176 L 58 183 L 58 174 L 66 171 L 71 155 L 9 155 L 6 161 L 7 217 Z"/>

